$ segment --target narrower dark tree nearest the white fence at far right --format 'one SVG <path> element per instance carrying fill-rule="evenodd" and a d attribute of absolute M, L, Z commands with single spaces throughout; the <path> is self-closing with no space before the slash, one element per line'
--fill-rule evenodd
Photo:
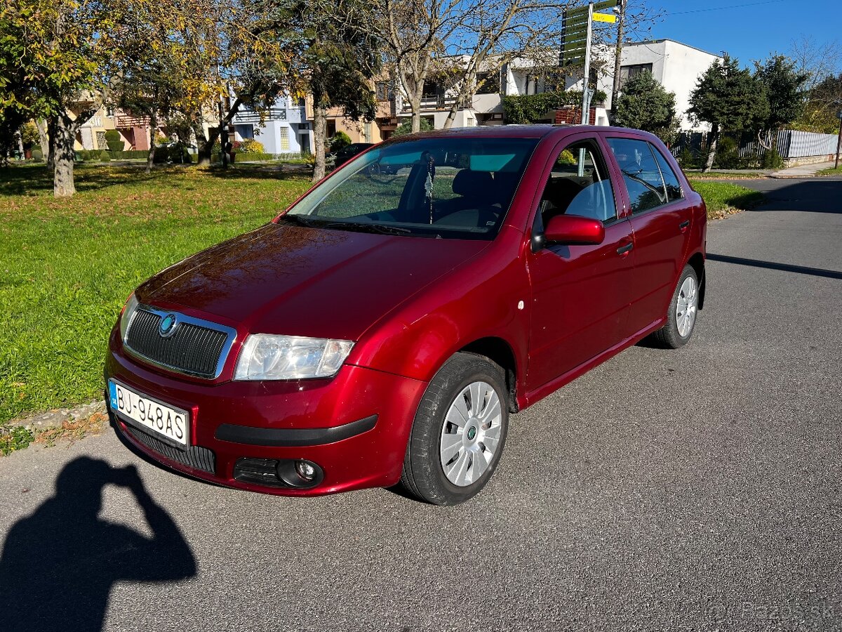
<path fill-rule="evenodd" d="M 754 62 L 754 69 L 754 78 L 764 87 L 769 101 L 762 129 L 780 130 L 797 120 L 804 110 L 804 85 L 810 78 L 809 73 L 799 71 L 796 62 L 783 55 L 772 55 L 765 62 Z M 777 135 L 773 135 L 772 139 L 773 145 L 766 149 L 774 151 Z"/>

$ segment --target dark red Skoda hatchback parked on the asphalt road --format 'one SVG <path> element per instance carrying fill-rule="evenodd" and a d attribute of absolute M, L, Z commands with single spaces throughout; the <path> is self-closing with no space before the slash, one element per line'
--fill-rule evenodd
<path fill-rule="evenodd" d="M 690 339 L 705 239 L 701 196 L 642 131 L 395 139 L 138 287 L 109 410 L 136 449 L 221 485 L 466 501 L 509 415 L 646 336 Z"/>

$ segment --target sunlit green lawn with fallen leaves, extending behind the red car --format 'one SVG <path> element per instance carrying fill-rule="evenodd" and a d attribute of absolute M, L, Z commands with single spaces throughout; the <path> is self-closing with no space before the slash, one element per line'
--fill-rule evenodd
<path fill-rule="evenodd" d="M 108 332 L 144 279 L 268 222 L 305 174 L 81 164 L 78 193 L 52 197 L 45 169 L 0 169 L 0 426 L 102 396 Z M 756 203 L 736 185 L 695 182 L 715 217 Z"/>

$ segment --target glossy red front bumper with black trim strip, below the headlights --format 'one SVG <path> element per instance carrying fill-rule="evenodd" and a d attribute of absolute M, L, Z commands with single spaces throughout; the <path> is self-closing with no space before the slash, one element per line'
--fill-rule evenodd
<path fill-rule="evenodd" d="M 400 479 L 424 382 L 346 365 L 330 379 L 199 383 L 126 356 L 116 331 L 109 342 L 106 382 L 113 378 L 190 412 L 190 445 L 184 450 L 109 409 L 116 431 L 168 468 L 277 495 L 387 487 Z M 299 459 L 322 469 L 317 485 L 298 488 L 274 480 L 266 485 L 242 476 L 242 463 Z"/>

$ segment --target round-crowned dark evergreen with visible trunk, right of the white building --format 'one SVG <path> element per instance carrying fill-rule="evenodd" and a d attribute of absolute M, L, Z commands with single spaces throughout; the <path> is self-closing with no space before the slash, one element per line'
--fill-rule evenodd
<path fill-rule="evenodd" d="M 736 58 L 725 56 L 711 64 L 690 94 L 690 110 L 711 124 L 704 171 L 713 167 L 722 132 L 757 131 L 769 116 L 765 88 Z"/>

